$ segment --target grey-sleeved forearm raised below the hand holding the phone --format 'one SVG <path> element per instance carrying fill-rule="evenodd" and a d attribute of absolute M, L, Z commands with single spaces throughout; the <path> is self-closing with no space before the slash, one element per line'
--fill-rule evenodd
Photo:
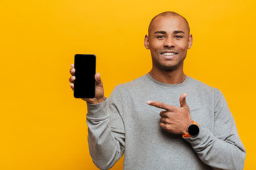
<path fill-rule="evenodd" d="M 87 104 L 89 149 L 93 162 L 100 169 L 110 169 L 124 153 L 124 133 L 111 127 L 106 104 L 106 101 Z"/>

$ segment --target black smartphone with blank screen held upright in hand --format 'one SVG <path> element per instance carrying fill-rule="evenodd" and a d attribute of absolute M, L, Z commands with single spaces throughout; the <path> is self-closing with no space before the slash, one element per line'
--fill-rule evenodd
<path fill-rule="evenodd" d="M 75 98 L 95 98 L 95 55 L 75 55 Z"/>

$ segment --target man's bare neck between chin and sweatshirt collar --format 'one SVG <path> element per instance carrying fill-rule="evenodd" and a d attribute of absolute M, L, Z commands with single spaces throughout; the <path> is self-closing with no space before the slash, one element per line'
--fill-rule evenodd
<path fill-rule="evenodd" d="M 186 74 L 184 74 L 183 69 L 170 71 L 152 68 L 149 74 L 156 81 L 165 84 L 181 84 L 186 79 Z"/>

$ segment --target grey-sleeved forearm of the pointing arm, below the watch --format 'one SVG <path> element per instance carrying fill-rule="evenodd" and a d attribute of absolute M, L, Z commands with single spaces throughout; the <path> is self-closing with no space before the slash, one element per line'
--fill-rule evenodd
<path fill-rule="evenodd" d="M 213 169 L 243 169 L 245 148 L 238 134 L 230 134 L 227 139 L 220 140 L 210 130 L 201 127 L 198 136 L 186 140 L 191 143 L 202 162 Z"/>

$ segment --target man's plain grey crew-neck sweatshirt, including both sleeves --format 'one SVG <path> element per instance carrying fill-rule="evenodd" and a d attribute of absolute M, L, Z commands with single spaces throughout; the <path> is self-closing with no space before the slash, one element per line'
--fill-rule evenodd
<path fill-rule="evenodd" d="M 200 128 L 183 138 L 159 127 L 160 108 L 146 101 L 180 106 L 186 102 Z M 124 170 L 243 169 L 245 148 L 223 94 L 186 77 L 181 84 L 164 84 L 150 74 L 114 88 L 102 103 L 87 103 L 90 154 L 100 169 L 110 169 L 124 154 Z"/>

